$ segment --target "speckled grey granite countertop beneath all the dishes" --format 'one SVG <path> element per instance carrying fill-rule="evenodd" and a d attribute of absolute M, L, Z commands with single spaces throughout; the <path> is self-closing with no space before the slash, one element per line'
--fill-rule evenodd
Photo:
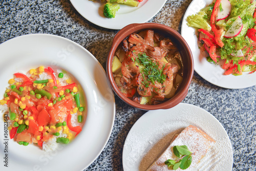
<path fill-rule="evenodd" d="M 167 0 L 149 22 L 161 23 L 180 32 L 181 19 L 190 2 Z M 68 0 L 2 0 L 0 4 L 0 43 L 31 33 L 59 35 L 89 50 L 105 69 L 106 56 L 118 30 L 104 29 L 88 22 Z M 183 100 L 210 112 L 224 126 L 233 148 L 233 170 L 256 170 L 255 97 L 255 86 L 240 90 L 223 89 L 195 73 Z M 111 137 L 86 170 L 122 170 L 125 138 L 146 111 L 132 108 L 117 96 L 115 100 L 116 118 Z"/>

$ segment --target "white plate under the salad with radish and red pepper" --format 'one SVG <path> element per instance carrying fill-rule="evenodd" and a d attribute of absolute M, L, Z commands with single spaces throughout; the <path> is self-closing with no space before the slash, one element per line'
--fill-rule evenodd
<path fill-rule="evenodd" d="M 227 89 L 243 89 L 256 84 L 256 73 L 243 73 L 241 76 L 223 75 L 224 70 L 206 60 L 206 53 L 201 53 L 197 44 L 196 29 L 187 26 L 186 18 L 196 14 L 202 8 L 212 4 L 212 0 L 193 0 L 188 6 L 181 26 L 181 35 L 187 41 L 194 57 L 195 71 L 208 82 Z M 208 54 L 207 54 L 208 56 Z"/>

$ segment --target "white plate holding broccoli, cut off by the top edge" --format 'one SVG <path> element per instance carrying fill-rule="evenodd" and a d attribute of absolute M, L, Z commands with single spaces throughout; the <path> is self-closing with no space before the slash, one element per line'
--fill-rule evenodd
<path fill-rule="evenodd" d="M 132 23 L 145 23 L 155 16 L 163 7 L 166 0 L 144 0 L 138 7 L 120 4 L 115 18 L 106 18 L 103 7 L 106 3 L 89 0 L 70 0 L 75 9 L 89 22 L 107 29 L 120 30 Z"/>

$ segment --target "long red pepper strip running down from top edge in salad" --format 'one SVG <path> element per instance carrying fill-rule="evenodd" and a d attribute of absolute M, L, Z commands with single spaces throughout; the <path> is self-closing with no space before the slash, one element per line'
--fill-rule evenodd
<path fill-rule="evenodd" d="M 216 15 L 218 13 L 218 8 L 221 4 L 221 0 L 217 0 L 216 3 L 214 4 L 214 9 L 212 10 L 212 13 L 211 13 L 211 16 L 210 16 L 210 27 L 211 27 L 211 30 L 214 32 L 215 34 L 215 39 L 216 39 L 216 43 L 217 45 L 219 45 L 221 48 L 224 46 L 222 40 L 220 39 L 221 37 L 221 32 L 216 28 L 216 25 L 215 25 L 215 20 L 216 20 Z"/>

